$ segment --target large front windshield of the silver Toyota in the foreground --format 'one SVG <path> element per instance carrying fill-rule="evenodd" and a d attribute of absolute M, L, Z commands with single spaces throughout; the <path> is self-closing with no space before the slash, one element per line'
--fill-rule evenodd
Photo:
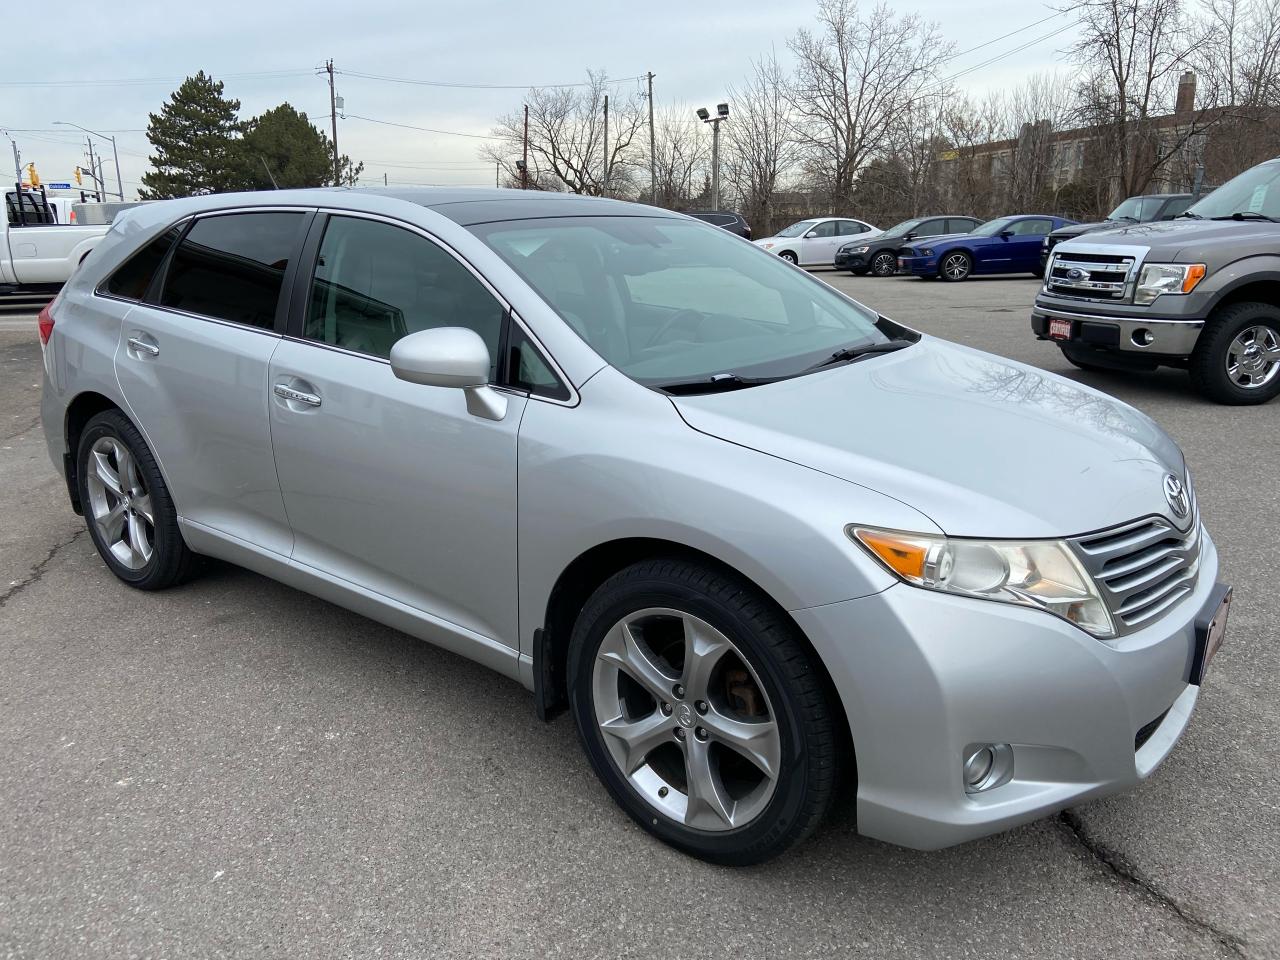
<path fill-rule="evenodd" d="M 596 353 L 649 387 L 795 376 L 888 342 L 877 315 L 718 227 L 646 216 L 468 228 Z"/>

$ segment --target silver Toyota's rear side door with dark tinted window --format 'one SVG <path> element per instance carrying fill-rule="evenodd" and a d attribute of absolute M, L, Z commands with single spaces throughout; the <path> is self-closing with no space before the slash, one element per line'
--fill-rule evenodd
<path fill-rule="evenodd" d="M 146 302 L 124 317 L 115 355 L 131 416 L 179 516 L 284 556 L 293 534 L 271 456 L 268 364 L 312 215 L 196 219 Z"/>

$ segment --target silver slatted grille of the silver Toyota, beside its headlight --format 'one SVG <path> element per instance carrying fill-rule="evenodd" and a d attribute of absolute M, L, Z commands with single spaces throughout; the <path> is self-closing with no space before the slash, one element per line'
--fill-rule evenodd
<path fill-rule="evenodd" d="M 1116 631 L 1157 620 L 1196 588 L 1201 554 L 1199 511 L 1185 531 L 1161 517 L 1135 520 L 1071 540 L 1098 585 Z"/>

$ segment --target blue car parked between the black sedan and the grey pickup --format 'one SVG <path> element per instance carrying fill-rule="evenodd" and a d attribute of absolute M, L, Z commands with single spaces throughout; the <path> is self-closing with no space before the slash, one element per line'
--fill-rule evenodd
<path fill-rule="evenodd" d="M 899 273 L 964 280 L 972 274 L 1033 274 L 1039 276 L 1044 238 L 1074 220 L 1061 216 L 1001 216 L 973 233 L 934 237 L 897 251 Z"/>

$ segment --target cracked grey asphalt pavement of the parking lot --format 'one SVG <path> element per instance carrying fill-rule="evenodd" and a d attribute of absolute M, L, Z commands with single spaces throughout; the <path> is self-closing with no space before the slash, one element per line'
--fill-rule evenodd
<path fill-rule="evenodd" d="M 1032 280 L 819 275 L 1183 444 L 1236 602 L 1148 782 L 940 852 L 859 837 L 846 801 L 781 860 L 691 860 L 513 682 L 229 566 L 116 582 L 45 451 L 33 317 L 5 320 L 0 957 L 1280 955 L 1280 402 L 1076 371 L 1030 335 Z"/>

